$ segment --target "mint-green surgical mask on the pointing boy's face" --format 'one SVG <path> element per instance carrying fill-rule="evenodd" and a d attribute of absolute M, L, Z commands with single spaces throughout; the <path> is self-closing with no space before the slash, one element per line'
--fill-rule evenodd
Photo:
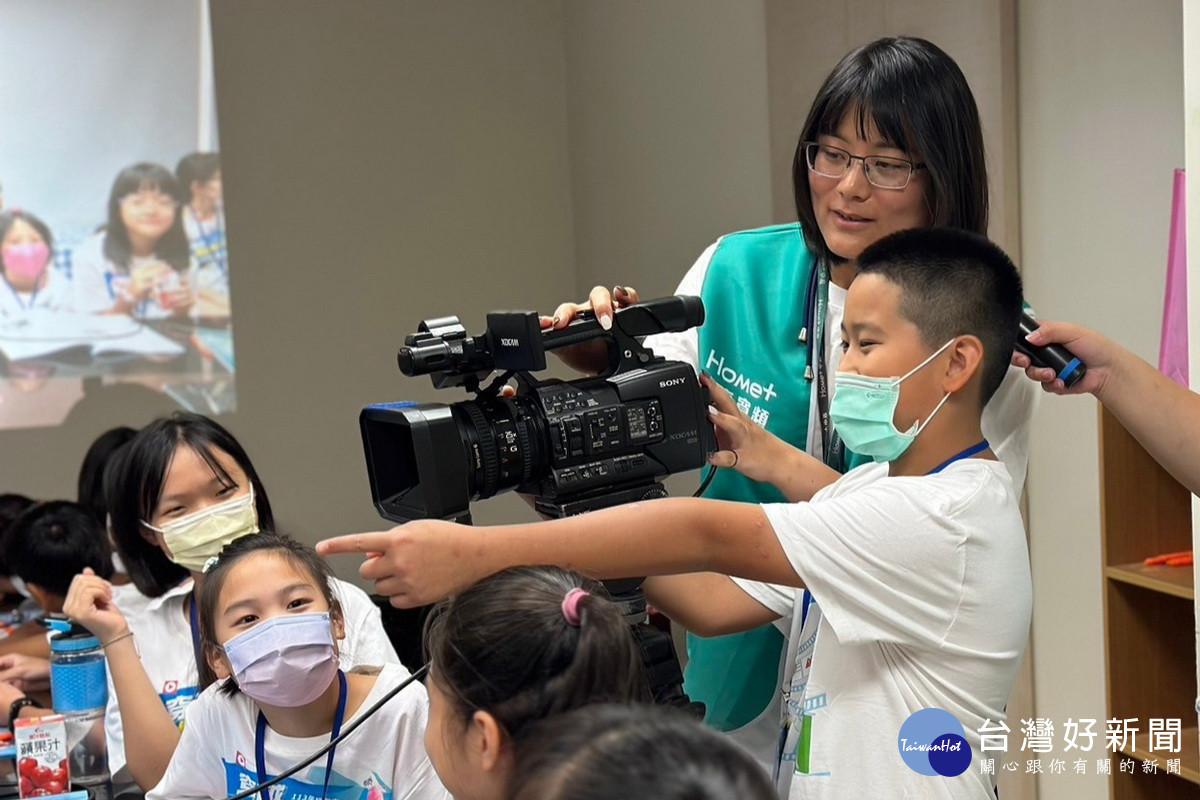
<path fill-rule="evenodd" d="M 833 427 L 854 452 L 869 456 L 876 462 L 895 461 L 908 450 L 908 445 L 934 419 L 950 393 L 947 392 L 934 408 L 925 421 L 913 422 L 907 431 L 898 431 L 895 426 L 896 403 L 900 402 L 900 384 L 919 372 L 950 347 L 950 339 L 928 359 L 918 363 L 900 378 L 871 378 L 839 372 L 834 375 L 833 402 L 829 404 L 829 419 Z"/>

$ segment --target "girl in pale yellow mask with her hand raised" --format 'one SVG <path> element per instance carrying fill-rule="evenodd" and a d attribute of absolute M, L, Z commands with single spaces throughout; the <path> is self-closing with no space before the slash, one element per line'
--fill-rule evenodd
<path fill-rule="evenodd" d="M 78 576 L 64 612 L 104 645 L 109 768 L 120 792 L 156 786 L 200 688 L 204 566 L 229 542 L 274 530 L 266 491 L 238 440 L 212 420 L 176 413 L 151 422 L 104 471 L 113 542 L 132 579 Z M 398 664 L 379 609 L 334 581 L 346 620 L 343 668 Z"/>

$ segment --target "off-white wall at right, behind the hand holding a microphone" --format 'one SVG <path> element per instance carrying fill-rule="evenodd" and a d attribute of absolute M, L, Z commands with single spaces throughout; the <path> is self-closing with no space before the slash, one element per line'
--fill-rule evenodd
<path fill-rule="evenodd" d="M 1158 359 L 1172 169 L 1183 163 L 1178 0 L 1018 8 L 1021 265 L 1044 319 L 1097 327 Z M 1103 720 L 1096 403 L 1046 398 L 1030 459 L 1034 709 Z M 1093 799 L 1094 776 L 1040 778 Z"/>

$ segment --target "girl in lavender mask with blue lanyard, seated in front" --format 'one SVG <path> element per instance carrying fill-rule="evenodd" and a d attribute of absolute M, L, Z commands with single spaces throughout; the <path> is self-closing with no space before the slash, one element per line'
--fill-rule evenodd
<path fill-rule="evenodd" d="M 320 750 L 409 675 L 346 672 L 329 567 L 286 536 L 226 547 L 198 594 L 200 686 L 162 782 L 148 800 L 233 796 Z M 323 756 L 284 778 L 283 796 L 442 800 L 424 748 L 425 687 L 412 682 Z"/>

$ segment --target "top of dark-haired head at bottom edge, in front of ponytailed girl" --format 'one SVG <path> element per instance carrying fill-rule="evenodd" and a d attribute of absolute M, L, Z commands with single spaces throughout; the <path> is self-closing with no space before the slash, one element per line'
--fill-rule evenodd
<path fill-rule="evenodd" d="M 589 705 L 529 727 L 511 800 L 776 800 L 767 772 L 721 734 L 662 705 Z"/>

